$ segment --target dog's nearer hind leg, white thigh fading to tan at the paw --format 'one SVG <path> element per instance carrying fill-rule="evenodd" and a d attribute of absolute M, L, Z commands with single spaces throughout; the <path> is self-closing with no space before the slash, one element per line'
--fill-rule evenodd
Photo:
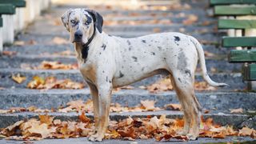
<path fill-rule="evenodd" d="M 179 101 L 182 103 L 186 125 L 190 125 L 189 134 L 186 134 L 190 140 L 195 140 L 199 136 L 201 106 L 194 94 L 194 74 L 187 74 L 186 71 L 177 70 L 173 73 L 175 90 Z M 185 125 L 185 126 L 186 126 Z M 185 130 L 187 126 L 185 127 Z"/>

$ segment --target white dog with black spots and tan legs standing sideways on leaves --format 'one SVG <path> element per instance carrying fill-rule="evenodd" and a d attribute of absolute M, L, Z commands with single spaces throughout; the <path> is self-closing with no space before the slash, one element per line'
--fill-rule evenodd
<path fill-rule="evenodd" d="M 184 129 L 179 134 L 195 140 L 199 135 L 201 106 L 194 94 L 194 72 L 198 59 L 202 76 L 210 86 L 201 44 L 181 33 L 149 34 L 120 38 L 102 31 L 103 18 L 94 10 L 67 10 L 63 25 L 74 43 L 79 70 L 90 87 L 94 103 L 94 134 L 90 141 L 102 141 L 106 133 L 113 88 L 138 82 L 155 74 L 170 74 L 184 111 Z"/>

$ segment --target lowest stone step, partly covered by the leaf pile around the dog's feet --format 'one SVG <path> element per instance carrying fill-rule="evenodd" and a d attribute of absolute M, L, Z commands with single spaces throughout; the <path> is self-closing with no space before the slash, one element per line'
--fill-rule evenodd
<path fill-rule="evenodd" d="M 38 113 L 40 114 L 40 113 Z M 30 112 L 22 112 L 22 113 L 14 113 L 14 114 L 0 114 L 0 128 L 10 126 L 14 124 L 14 122 L 18 122 L 20 120 L 25 120 L 29 118 L 38 118 L 37 113 Z M 44 114 L 44 113 L 41 113 Z M 47 113 L 50 116 L 53 116 L 54 119 L 61 119 L 63 121 L 77 121 L 78 113 Z M 166 118 L 182 118 L 183 114 L 181 111 L 172 111 L 172 110 L 161 110 L 154 112 L 123 112 L 123 113 L 110 113 L 111 120 L 121 120 L 124 118 L 132 117 L 132 118 L 146 118 L 148 115 L 160 116 L 162 114 L 166 114 Z M 93 119 L 93 114 L 86 114 L 87 117 Z M 211 113 L 211 114 L 203 114 L 203 118 L 213 118 L 214 122 L 220 124 L 222 126 L 231 125 L 235 128 L 242 127 L 242 122 L 247 121 L 252 116 L 246 114 L 223 114 L 223 113 Z"/>

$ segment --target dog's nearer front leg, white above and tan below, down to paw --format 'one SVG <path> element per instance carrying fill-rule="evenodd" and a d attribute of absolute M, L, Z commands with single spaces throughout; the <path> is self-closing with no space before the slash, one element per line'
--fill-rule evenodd
<path fill-rule="evenodd" d="M 96 134 L 91 135 L 90 141 L 102 141 L 105 136 L 107 126 L 109 124 L 110 115 L 110 97 L 112 93 L 112 86 L 110 83 L 101 84 L 98 86 L 98 131 Z"/>

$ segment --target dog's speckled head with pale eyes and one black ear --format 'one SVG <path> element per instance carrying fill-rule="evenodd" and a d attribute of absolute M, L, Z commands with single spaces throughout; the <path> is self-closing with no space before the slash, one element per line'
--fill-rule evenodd
<path fill-rule="evenodd" d="M 70 32 L 70 42 L 85 44 L 94 30 L 102 33 L 103 18 L 94 10 L 70 9 L 62 15 L 62 23 Z"/>

